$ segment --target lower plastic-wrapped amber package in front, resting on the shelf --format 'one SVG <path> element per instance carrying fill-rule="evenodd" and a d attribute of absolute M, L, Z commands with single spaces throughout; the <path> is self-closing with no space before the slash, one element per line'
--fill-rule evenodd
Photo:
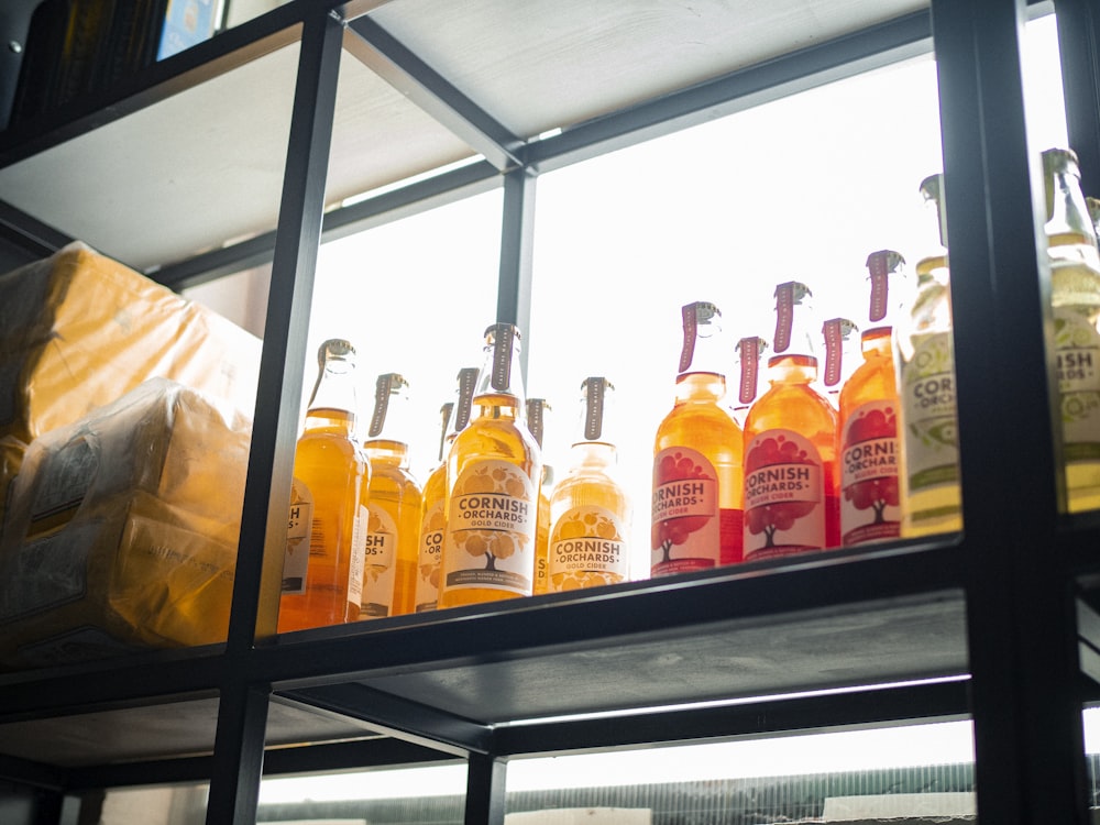
<path fill-rule="evenodd" d="M 0 538 L 0 663 L 223 641 L 250 438 L 154 378 L 35 439 Z"/>

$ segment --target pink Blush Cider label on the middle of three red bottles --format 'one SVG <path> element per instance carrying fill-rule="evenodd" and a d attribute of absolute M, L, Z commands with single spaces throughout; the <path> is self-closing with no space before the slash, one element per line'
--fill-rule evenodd
<path fill-rule="evenodd" d="M 824 468 L 793 430 L 765 430 L 745 451 L 745 560 L 825 547 Z"/>

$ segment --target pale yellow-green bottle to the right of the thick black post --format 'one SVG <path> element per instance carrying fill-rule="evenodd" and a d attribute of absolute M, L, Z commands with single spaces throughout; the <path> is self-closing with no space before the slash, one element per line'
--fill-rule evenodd
<path fill-rule="evenodd" d="M 1047 257 L 1070 513 L 1100 507 L 1100 254 L 1077 155 L 1043 153 Z"/>

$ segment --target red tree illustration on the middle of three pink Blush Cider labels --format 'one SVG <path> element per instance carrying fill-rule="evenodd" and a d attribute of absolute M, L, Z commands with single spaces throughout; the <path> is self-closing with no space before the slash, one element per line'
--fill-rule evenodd
<path fill-rule="evenodd" d="M 798 465 L 804 465 L 805 470 L 800 470 Z M 817 465 L 815 454 L 812 455 L 802 444 L 784 435 L 763 436 L 755 440 L 745 457 L 745 526 L 754 536 L 763 534 L 763 547 L 758 549 L 776 547 L 777 532 L 790 530 L 799 519 L 809 516 L 818 506 L 816 497 L 787 495 L 795 484 L 801 484 L 803 472 L 809 479 L 810 470 Z M 805 486 L 811 490 L 810 484 Z M 784 494 L 773 494 L 771 491 L 774 488 L 783 488 Z"/>

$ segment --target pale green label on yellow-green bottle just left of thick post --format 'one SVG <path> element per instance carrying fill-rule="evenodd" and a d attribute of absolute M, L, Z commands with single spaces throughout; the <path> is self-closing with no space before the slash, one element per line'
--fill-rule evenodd
<path fill-rule="evenodd" d="M 949 332 L 920 341 L 902 369 L 905 475 L 909 492 L 958 483 L 955 358 Z"/>

